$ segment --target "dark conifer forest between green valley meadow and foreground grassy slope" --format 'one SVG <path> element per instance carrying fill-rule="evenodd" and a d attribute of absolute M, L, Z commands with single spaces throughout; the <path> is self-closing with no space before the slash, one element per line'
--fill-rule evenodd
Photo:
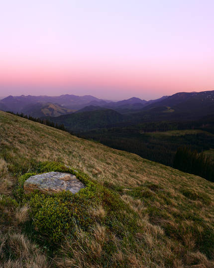
<path fill-rule="evenodd" d="M 82 134 L 82 137 L 97 140 L 109 147 L 136 153 L 143 158 L 212 180 L 213 173 L 208 170 L 214 170 L 214 166 L 209 158 L 205 161 L 205 156 L 203 156 L 203 151 L 214 148 L 214 135 L 211 134 L 199 132 L 194 134 L 181 133 L 180 135 L 163 135 L 161 133 L 153 135 L 146 132 L 140 133 L 137 128 L 114 128 L 91 131 Z M 179 156 L 179 152 L 177 153 L 181 146 L 187 146 L 190 151 L 195 152 L 198 164 L 191 164 L 190 168 L 189 160 L 186 162 L 186 158 Z M 177 160 L 174 162 L 175 157 Z M 178 159 L 180 159 L 179 165 L 176 164 Z"/>

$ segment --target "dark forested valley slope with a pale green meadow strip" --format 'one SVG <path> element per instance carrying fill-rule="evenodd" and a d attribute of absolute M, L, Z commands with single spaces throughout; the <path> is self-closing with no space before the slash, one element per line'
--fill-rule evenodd
<path fill-rule="evenodd" d="M 82 137 L 173 166 L 175 154 L 181 146 L 191 147 L 198 152 L 214 148 L 213 126 L 214 117 L 193 122 L 151 122 L 107 130 L 97 129 L 82 133 Z"/>

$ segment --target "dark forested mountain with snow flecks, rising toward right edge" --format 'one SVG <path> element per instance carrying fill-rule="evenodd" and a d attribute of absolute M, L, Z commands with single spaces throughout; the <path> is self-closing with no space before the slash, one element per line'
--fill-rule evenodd
<path fill-rule="evenodd" d="M 139 103 L 137 99 L 138 103 L 133 104 L 133 99 L 137 98 L 124 100 L 119 104 L 109 103 L 108 107 L 114 105 L 114 108 L 106 108 L 107 105 L 90 105 L 75 113 L 55 118 L 48 117 L 48 119 L 57 124 L 64 124 L 71 131 L 86 132 L 99 128 L 128 127 L 145 122 L 196 120 L 214 115 L 214 91 L 177 93 L 150 104 L 146 102 L 139 110 L 127 108 L 144 103 L 144 101 Z M 121 107 L 124 111 L 124 105 L 127 113 L 120 112 Z"/>

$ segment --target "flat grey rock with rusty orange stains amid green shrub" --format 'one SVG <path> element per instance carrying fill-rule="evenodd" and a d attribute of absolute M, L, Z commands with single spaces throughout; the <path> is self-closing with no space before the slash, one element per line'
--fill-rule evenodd
<path fill-rule="evenodd" d="M 45 194 L 70 191 L 73 194 L 85 188 L 85 185 L 73 174 L 62 172 L 48 172 L 29 177 L 24 182 L 24 192 L 39 190 Z"/>

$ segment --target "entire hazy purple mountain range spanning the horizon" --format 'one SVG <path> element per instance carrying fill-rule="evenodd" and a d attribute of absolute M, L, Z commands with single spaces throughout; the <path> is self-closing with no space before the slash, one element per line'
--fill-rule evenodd
<path fill-rule="evenodd" d="M 0 101 L 0 110 L 23 113 L 33 117 L 58 117 L 69 114 L 65 119 L 68 121 L 69 118 L 71 124 L 73 124 L 73 119 L 74 122 L 77 122 L 78 116 L 76 114 L 79 114 L 79 117 L 88 117 L 88 121 L 93 121 L 94 117 L 103 118 L 104 114 L 109 119 L 109 115 L 113 114 L 112 111 L 120 114 L 120 122 L 194 119 L 214 114 L 214 91 L 180 92 L 150 101 L 132 97 L 117 102 L 98 99 L 90 95 L 8 96 Z M 82 113 L 86 113 L 86 115 L 80 115 Z M 93 119 L 89 118 L 91 116 Z M 63 117 L 55 119 L 55 121 L 59 120 L 65 124 Z M 115 123 L 113 118 L 104 121 L 109 124 Z"/>

